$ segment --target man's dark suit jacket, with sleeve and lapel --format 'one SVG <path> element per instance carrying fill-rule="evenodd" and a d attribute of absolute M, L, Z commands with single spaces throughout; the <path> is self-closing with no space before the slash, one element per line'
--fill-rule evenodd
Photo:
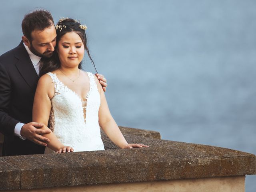
<path fill-rule="evenodd" d="M 3 156 L 42 154 L 44 147 L 14 136 L 18 122 L 32 122 L 38 75 L 23 42 L 0 56 L 0 132 Z"/>

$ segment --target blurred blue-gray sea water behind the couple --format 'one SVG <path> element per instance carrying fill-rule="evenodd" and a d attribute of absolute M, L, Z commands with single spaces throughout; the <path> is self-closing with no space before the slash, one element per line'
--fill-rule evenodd
<path fill-rule="evenodd" d="M 256 154 L 255 0 L 1 1 L 0 54 L 36 7 L 88 26 L 118 125 Z M 247 192 L 255 182 L 246 176 Z"/>

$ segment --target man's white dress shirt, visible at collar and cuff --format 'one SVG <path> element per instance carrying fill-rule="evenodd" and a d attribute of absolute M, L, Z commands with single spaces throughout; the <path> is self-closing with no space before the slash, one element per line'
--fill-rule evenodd
<path fill-rule="evenodd" d="M 27 52 L 28 52 L 28 55 L 29 55 L 29 57 L 30 57 L 30 60 L 32 61 L 32 64 L 33 64 L 33 66 L 34 66 L 34 68 L 35 68 L 35 70 L 36 70 L 36 73 L 39 75 L 40 59 L 41 59 L 41 57 L 38 57 L 38 56 L 36 56 L 35 54 L 33 54 L 33 53 L 29 50 L 28 46 L 26 46 L 24 43 L 23 43 L 23 45 L 25 46 L 25 48 L 26 48 L 26 50 L 27 50 Z M 17 123 L 17 124 L 16 124 L 16 126 L 15 126 L 15 128 L 14 128 L 14 135 L 16 135 L 16 136 L 18 136 L 19 138 L 25 140 L 26 138 L 24 138 L 24 137 L 22 137 L 22 136 L 20 135 L 20 130 L 21 130 L 21 128 L 22 128 L 23 125 L 24 125 L 24 123 Z"/>

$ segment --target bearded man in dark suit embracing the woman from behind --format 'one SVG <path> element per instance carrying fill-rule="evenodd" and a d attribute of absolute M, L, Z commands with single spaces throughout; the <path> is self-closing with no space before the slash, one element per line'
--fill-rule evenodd
<path fill-rule="evenodd" d="M 0 132 L 2 156 L 43 154 L 49 142 L 44 124 L 32 122 L 32 106 L 40 59 L 50 58 L 56 46 L 56 30 L 47 10 L 35 10 L 22 20 L 22 42 L 0 56 Z M 103 90 L 106 79 L 96 74 Z"/>

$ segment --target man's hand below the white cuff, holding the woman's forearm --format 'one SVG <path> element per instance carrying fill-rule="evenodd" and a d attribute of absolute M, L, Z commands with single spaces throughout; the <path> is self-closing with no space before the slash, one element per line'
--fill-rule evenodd
<path fill-rule="evenodd" d="M 47 134 L 50 133 L 51 131 L 40 129 L 43 126 L 43 123 L 37 122 L 30 122 L 24 124 L 20 130 L 20 135 L 38 145 L 47 146 L 46 142 L 50 142 L 50 140 L 42 136 L 42 134 Z"/>

